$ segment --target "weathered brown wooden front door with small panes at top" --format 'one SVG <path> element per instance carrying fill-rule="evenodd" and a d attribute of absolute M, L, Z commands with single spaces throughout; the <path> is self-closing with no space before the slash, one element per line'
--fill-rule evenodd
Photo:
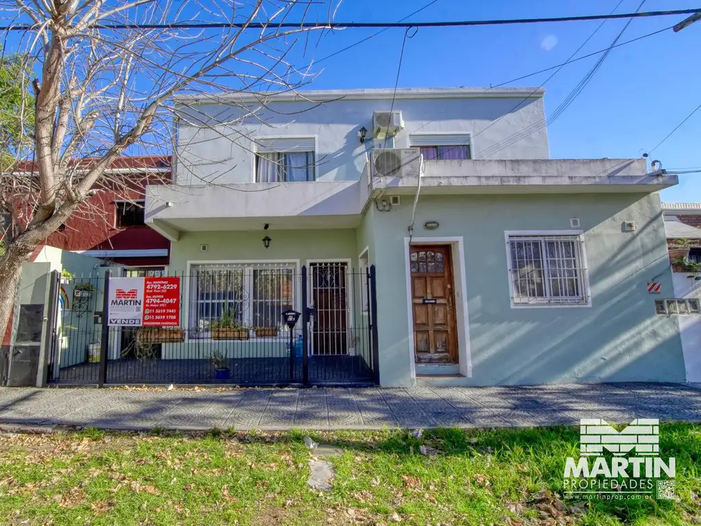
<path fill-rule="evenodd" d="M 450 245 L 409 252 L 416 363 L 458 363 Z"/>

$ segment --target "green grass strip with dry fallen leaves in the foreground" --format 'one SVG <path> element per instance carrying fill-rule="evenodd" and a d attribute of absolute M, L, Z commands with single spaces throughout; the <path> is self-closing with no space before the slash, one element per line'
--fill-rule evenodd
<path fill-rule="evenodd" d="M 701 521 L 701 426 L 668 424 L 676 501 L 538 501 L 562 492 L 578 429 L 311 432 L 343 449 L 329 492 L 307 486 L 306 432 L 179 436 L 97 429 L 0 436 L 0 524 L 685 525 Z M 421 445 L 437 456 L 419 453 Z M 566 501 L 566 506 L 574 503 Z M 238 522 L 237 522 L 238 521 Z M 548 522 L 550 521 L 550 522 Z"/>

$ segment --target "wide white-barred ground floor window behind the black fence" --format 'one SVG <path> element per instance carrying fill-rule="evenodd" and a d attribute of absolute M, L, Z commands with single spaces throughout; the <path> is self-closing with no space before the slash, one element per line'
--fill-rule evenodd
<path fill-rule="evenodd" d="M 191 338 L 210 328 L 287 330 L 282 313 L 294 306 L 293 264 L 196 265 L 191 269 Z"/>

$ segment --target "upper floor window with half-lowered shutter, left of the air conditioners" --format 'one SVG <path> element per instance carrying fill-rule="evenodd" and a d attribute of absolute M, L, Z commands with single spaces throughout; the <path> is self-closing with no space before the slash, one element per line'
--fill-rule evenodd
<path fill-rule="evenodd" d="M 314 137 L 257 139 L 256 182 L 313 181 Z"/>

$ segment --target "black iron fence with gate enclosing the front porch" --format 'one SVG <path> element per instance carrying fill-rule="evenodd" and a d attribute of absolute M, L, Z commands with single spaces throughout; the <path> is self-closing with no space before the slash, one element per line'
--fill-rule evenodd
<path fill-rule="evenodd" d="M 106 298 L 118 293 L 128 303 L 136 294 L 130 288 L 134 282 L 116 279 L 122 272 L 113 267 L 104 276 L 62 283 L 50 382 L 378 383 L 374 267 L 353 270 L 337 262 L 301 269 L 262 263 L 193 266 L 188 274 L 167 276 L 179 285 L 171 300 L 179 306 L 177 321 L 154 321 L 172 316 L 154 316 L 144 300 L 142 323 L 177 326 L 105 323 Z M 300 314 L 292 328 L 286 311 Z"/>

